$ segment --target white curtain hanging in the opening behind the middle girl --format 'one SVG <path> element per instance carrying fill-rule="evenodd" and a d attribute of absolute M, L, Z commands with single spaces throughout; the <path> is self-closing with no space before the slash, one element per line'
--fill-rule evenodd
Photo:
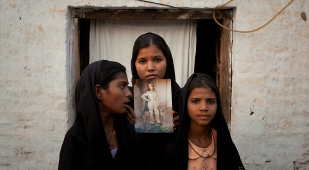
<path fill-rule="evenodd" d="M 99 59 L 120 62 L 126 67 L 130 82 L 133 44 L 147 32 L 156 33 L 166 41 L 173 56 L 176 82 L 182 87 L 194 72 L 195 20 L 91 19 L 89 63 Z"/>

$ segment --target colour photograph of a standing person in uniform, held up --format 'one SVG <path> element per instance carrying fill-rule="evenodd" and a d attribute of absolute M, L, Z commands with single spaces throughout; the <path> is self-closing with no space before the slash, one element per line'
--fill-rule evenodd
<path fill-rule="evenodd" d="M 133 89 L 135 131 L 173 132 L 170 79 L 135 79 Z"/>

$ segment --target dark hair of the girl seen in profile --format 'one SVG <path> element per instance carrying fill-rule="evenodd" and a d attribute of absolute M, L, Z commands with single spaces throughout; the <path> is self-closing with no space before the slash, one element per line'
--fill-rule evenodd
<path fill-rule="evenodd" d="M 103 89 L 108 89 L 109 82 L 116 78 L 117 73 L 123 72 L 126 74 L 125 71 L 125 66 L 119 62 L 102 60 L 97 84 L 101 85 Z"/>

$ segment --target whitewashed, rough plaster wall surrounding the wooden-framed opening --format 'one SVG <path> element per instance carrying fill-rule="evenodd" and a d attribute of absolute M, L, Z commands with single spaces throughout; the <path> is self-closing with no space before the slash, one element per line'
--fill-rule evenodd
<path fill-rule="evenodd" d="M 152 0 L 214 8 L 227 0 Z M 235 0 L 251 30 L 289 0 Z M 57 169 L 68 128 L 70 15 L 76 7 L 164 7 L 137 0 L 0 0 L 0 169 Z M 247 169 L 308 169 L 309 1 L 252 33 L 232 33 L 231 135 Z M 250 113 L 253 112 L 251 115 Z M 295 165 L 293 163 L 295 161 Z"/>

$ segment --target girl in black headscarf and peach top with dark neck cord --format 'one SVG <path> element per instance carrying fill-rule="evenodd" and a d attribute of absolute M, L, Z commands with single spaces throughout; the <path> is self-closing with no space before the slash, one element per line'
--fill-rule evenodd
<path fill-rule="evenodd" d="M 222 114 L 219 89 L 210 76 L 193 73 L 180 94 L 174 169 L 244 169 Z M 173 148 L 173 149 L 171 149 Z"/>

